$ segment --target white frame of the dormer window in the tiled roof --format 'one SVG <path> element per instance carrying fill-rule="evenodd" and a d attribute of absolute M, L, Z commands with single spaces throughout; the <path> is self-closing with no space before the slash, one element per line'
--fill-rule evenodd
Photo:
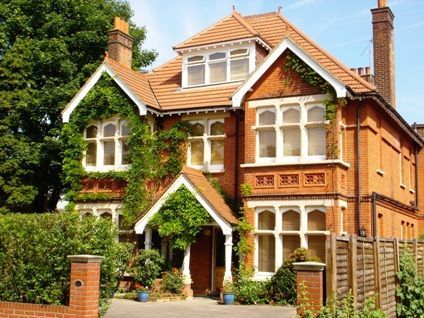
<path fill-rule="evenodd" d="M 230 56 L 230 53 L 235 50 L 239 49 L 246 49 L 247 53 L 239 56 Z M 209 56 L 215 53 L 225 53 L 225 58 L 219 59 L 219 60 L 210 60 Z M 189 62 L 188 59 L 194 56 L 203 56 L 203 61 L 201 62 Z M 213 50 L 201 50 L 196 51 L 190 54 L 187 54 L 183 56 L 183 65 L 182 65 L 182 83 L 181 86 L 183 88 L 191 88 L 191 87 L 202 87 L 202 86 L 208 86 L 208 85 L 219 85 L 224 83 L 237 83 L 237 82 L 243 82 L 244 79 L 239 80 L 231 80 L 231 60 L 240 60 L 240 59 L 248 59 L 248 74 L 246 75 L 246 78 L 249 76 L 249 74 L 255 69 L 255 63 L 256 63 L 256 46 L 255 43 L 251 43 L 249 45 L 233 45 L 230 48 L 217 48 L 214 47 Z M 220 82 L 210 82 L 210 70 L 209 65 L 214 63 L 221 63 L 223 61 L 226 61 L 227 68 L 226 68 L 226 79 L 224 81 Z M 188 68 L 190 66 L 194 65 L 203 65 L 205 68 L 205 81 L 203 84 L 196 84 L 196 85 L 189 85 L 188 84 Z"/>

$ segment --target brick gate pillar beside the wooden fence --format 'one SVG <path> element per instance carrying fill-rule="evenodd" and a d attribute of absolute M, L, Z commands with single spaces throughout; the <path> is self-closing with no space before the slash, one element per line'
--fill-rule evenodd
<path fill-rule="evenodd" d="M 317 262 L 294 263 L 296 271 L 297 304 L 307 304 L 305 309 L 319 310 L 324 303 L 324 268 Z M 306 299 L 302 296 L 306 292 Z"/>

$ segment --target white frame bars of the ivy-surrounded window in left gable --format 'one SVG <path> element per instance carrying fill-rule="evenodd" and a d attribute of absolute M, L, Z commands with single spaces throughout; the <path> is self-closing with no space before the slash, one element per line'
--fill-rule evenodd
<path fill-rule="evenodd" d="M 86 171 L 110 171 L 110 170 L 127 170 L 129 164 L 122 164 L 122 143 L 125 140 L 128 140 L 130 136 L 121 136 L 122 126 L 127 124 L 126 120 L 121 120 L 118 118 L 108 118 L 106 120 L 96 120 L 90 122 L 87 127 L 84 129 L 84 140 L 86 142 L 96 142 L 96 165 L 89 166 L 86 164 L 86 154 L 84 153 L 82 166 Z M 115 125 L 115 134 L 112 137 L 103 137 L 103 130 L 108 124 Z M 96 138 L 87 139 L 87 128 L 90 126 L 97 127 L 97 136 Z M 115 142 L 115 162 L 113 165 L 104 164 L 104 142 L 105 141 L 114 141 Z"/>

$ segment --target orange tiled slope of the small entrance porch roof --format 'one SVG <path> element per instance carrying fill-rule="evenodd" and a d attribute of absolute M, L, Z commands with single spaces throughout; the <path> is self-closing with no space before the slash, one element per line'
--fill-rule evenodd
<path fill-rule="evenodd" d="M 209 183 L 204 174 L 195 169 L 184 167 L 181 174 L 185 175 L 187 179 L 196 187 L 202 194 L 203 198 L 209 202 L 214 210 L 221 215 L 228 223 L 237 224 L 237 217 L 225 203 L 222 196 L 215 190 Z"/>

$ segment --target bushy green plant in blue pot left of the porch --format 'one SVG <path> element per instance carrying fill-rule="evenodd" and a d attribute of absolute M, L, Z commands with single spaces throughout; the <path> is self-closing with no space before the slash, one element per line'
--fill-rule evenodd
<path fill-rule="evenodd" d="M 141 251 L 134 260 L 132 275 L 138 284 L 137 299 L 145 302 L 149 299 L 149 289 L 162 272 L 164 259 L 157 250 Z"/>

